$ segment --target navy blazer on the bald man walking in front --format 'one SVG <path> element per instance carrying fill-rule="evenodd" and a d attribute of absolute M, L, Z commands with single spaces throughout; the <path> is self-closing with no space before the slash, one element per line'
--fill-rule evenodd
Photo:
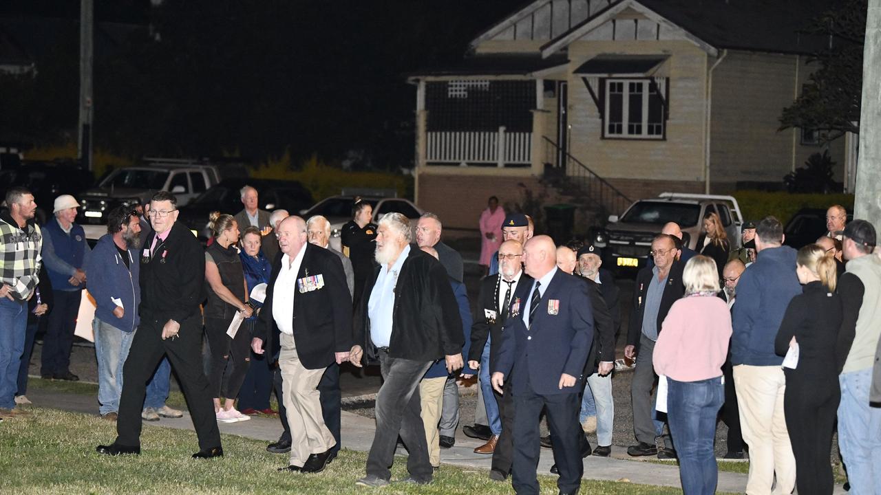
<path fill-rule="evenodd" d="M 517 284 L 517 290 L 501 334 L 499 355 L 492 372 L 513 379 L 515 395 L 531 391 L 539 395 L 577 394 L 577 386 L 559 389 L 559 377 L 566 373 L 581 379 L 594 340 L 594 317 L 588 284 L 561 270 L 551 279 L 538 301 L 532 329 L 523 322 L 522 311 L 534 284 Z M 552 301 L 559 302 L 556 314 Z M 529 377 L 529 380 L 526 380 Z"/>

